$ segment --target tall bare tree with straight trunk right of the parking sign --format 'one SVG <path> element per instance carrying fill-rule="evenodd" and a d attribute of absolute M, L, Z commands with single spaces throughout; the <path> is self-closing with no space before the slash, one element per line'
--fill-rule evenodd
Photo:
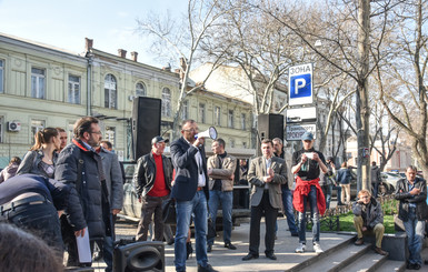
<path fill-rule="evenodd" d="M 356 83 L 358 189 L 370 185 L 369 160 L 366 155 L 369 148 L 370 114 L 368 79 L 385 58 L 379 51 L 378 58 L 370 62 L 370 48 L 379 48 L 389 31 L 387 22 L 391 4 L 395 4 L 394 1 L 376 1 L 370 7 L 369 0 L 326 0 L 325 4 L 320 4 L 322 7 L 317 7 L 322 13 L 319 16 L 321 20 L 317 21 L 317 31 L 302 18 L 283 18 L 278 10 L 266 10 L 298 34 L 315 53 Z M 313 40 L 328 44 L 328 50 L 313 47 Z"/>

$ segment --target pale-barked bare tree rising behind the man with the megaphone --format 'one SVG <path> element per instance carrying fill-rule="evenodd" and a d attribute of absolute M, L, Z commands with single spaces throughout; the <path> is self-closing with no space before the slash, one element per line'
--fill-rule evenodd
<path fill-rule="evenodd" d="M 180 93 L 176 111 L 173 112 L 172 138 L 179 135 L 179 120 L 182 103 L 187 95 L 203 87 L 215 69 L 221 64 L 221 53 L 212 60 L 212 69 L 206 79 L 191 85 L 189 72 L 193 63 L 209 60 L 209 56 L 201 52 L 201 44 L 208 37 L 208 31 L 225 16 L 227 11 L 219 12 L 219 0 L 188 0 L 185 18 L 177 20 L 169 13 L 165 18 L 150 14 L 143 20 L 137 20 L 138 32 L 153 37 L 152 49 L 161 58 L 180 59 Z M 211 56 L 212 57 L 212 56 Z"/>

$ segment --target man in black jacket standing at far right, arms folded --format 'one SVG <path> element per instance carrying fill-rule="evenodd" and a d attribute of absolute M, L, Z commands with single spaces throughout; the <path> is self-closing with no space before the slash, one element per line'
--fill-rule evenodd
<path fill-rule="evenodd" d="M 422 249 L 425 220 L 427 219 L 427 183 L 424 179 L 416 178 L 417 170 L 410 165 L 406 170 L 406 179 L 397 181 L 396 199 L 400 201 L 398 218 L 405 224 L 409 260 L 407 269 L 419 270 L 422 263 L 420 251 Z"/>

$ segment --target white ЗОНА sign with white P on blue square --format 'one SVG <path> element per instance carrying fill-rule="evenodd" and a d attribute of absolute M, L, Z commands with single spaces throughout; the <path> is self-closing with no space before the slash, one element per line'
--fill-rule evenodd
<path fill-rule="evenodd" d="M 311 104 L 313 102 L 312 71 L 312 63 L 306 63 L 289 68 L 289 105 Z"/>

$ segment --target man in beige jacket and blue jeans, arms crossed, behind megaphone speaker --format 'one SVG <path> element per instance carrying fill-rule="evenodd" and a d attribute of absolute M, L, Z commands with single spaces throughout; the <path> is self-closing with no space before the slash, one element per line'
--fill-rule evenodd
<path fill-rule="evenodd" d="M 223 216 L 225 248 L 236 250 L 231 243 L 232 204 L 233 204 L 233 173 L 237 160 L 225 151 L 226 142 L 217 139 L 211 144 L 215 155 L 208 158 L 209 201 L 208 208 L 212 222 L 216 222 L 217 210 L 221 203 Z M 215 238 L 208 240 L 207 251 L 211 252 Z"/>

